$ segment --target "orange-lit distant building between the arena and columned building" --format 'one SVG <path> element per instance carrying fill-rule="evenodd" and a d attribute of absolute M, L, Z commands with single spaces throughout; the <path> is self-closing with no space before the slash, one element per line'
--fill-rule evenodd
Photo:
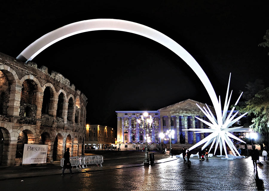
<path fill-rule="evenodd" d="M 102 125 L 86 125 L 85 147 L 105 149 L 115 144 L 115 130 Z"/>

